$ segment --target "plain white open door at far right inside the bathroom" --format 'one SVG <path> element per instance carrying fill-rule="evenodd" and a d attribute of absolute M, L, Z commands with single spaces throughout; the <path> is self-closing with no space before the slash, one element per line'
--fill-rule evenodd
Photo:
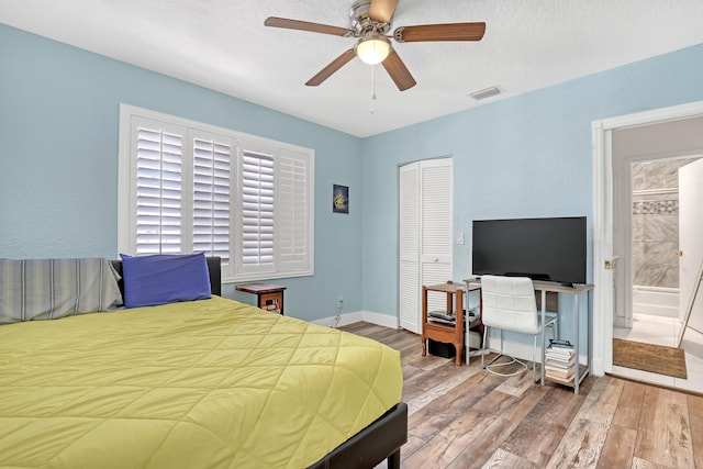
<path fill-rule="evenodd" d="M 703 260 L 703 158 L 679 168 L 679 317 L 685 321 Z M 685 327 L 685 323 L 682 324 Z M 699 292 L 688 326 L 703 332 L 703 295 Z"/>

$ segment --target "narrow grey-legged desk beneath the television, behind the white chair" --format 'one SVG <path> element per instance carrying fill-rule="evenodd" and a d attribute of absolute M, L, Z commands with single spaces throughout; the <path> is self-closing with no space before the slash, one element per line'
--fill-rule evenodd
<path fill-rule="evenodd" d="M 480 288 L 481 286 L 481 279 L 480 278 L 470 278 L 470 279 L 465 279 L 464 280 L 467 284 L 467 288 L 472 288 L 472 287 L 478 287 Z M 590 298 L 590 292 L 591 290 L 593 290 L 593 286 L 592 284 L 588 284 L 588 283 L 583 283 L 583 284 L 576 284 L 573 287 L 568 287 L 568 286 L 563 286 L 560 283 L 554 283 L 554 282 L 546 282 L 546 281 L 533 281 L 533 286 L 535 287 L 535 291 L 539 292 L 540 297 L 542 297 L 542 308 L 540 308 L 540 314 L 542 314 L 542 324 L 545 323 L 545 312 L 546 312 L 546 304 L 547 304 L 547 292 L 555 292 L 555 293 L 565 293 L 565 294 L 571 294 L 573 295 L 573 350 L 577 354 L 577 364 L 578 366 L 576 367 L 576 373 L 573 376 L 573 383 L 572 384 L 566 384 L 566 386 L 572 386 L 573 387 L 573 393 L 578 394 L 579 393 L 579 386 L 581 384 L 581 381 L 583 381 L 583 378 L 585 378 L 588 376 L 588 373 L 591 371 L 591 334 L 592 334 L 592 325 L 591 325 L 591 298 Z M 579 297 L 581 297 L 582 293 L 587 294 L 587 351 L 585 351 L 585 364 L 581 364 L 580 362 L 580 333 L 579 333 L 579 325 L 580 325 L 580 311 L 579 311 Z M 559 321 L 557 319 L 557 321 Z M 542 328 L 542 377 L 540 377 L 540 383 L 544 386 L 545 383 L 545 353 L 547 350 L 547 336 L 545 335 L 545 327 Z M 559 381 L 561 382 L 561 381 Z M 563 383 L 562 383 L 563 384 Z"/>

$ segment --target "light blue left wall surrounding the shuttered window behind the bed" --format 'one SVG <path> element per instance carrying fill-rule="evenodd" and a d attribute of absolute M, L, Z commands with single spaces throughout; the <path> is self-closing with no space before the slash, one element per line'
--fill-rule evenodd
<path fill-rule="evenodd" d="M 315 276 L 276 282 L 299 317 L 334 315 L 338 295 L 361 310 L 359 138 L 2 24 L 0 257 L 118 255 L 121 102 L 313 148 Z M 348 215 L 333 183 L 350 187 Z"/>

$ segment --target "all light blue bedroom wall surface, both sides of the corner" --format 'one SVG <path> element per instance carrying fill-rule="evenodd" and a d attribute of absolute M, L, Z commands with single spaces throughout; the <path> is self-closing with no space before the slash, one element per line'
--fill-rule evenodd
<path fill-rule="evenodd" d="M 461 279 L 473 219 L 584 214 L 591 228 L 591 122 L 702 100 L 701 83 L 703 45 L 359 139 L 0 25 L 0 257 L 116 255 L 126 102 L 313 148 L 315 276 L 277 280 L 287 311 L 332 316 L 343 295 L 345 312 L 394 316 L 399 164 L 454 156 Z M 333 183 L 350 187 L 349 215 L 332 213 Z"/>

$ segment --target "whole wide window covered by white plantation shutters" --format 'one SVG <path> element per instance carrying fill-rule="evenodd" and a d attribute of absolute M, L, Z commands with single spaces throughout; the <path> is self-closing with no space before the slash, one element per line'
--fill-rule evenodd
<path fill-rule="evenodd" d="M 204 252 L 228 281 L 313 273 L 313 152 L 120 108 L 118 247 Z"/>

